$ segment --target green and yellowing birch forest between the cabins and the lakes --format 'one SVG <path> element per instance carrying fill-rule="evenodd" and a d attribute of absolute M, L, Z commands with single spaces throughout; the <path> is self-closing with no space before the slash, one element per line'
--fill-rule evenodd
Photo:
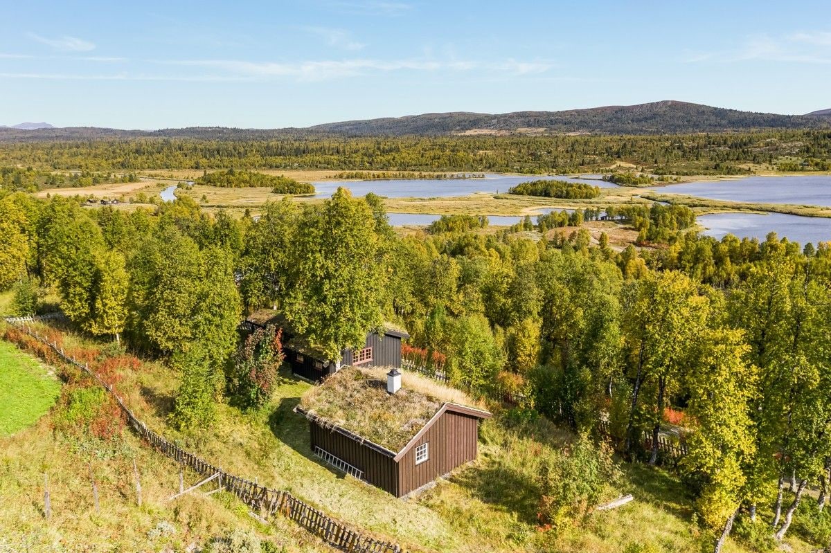
<path fill-rule="evenodd" d="M 751 548 L 794 526 L 827 545 L 831 248 L 681 232 L 687 212 L 609 213 L 665 245 L 616 252 L 583 229 L 525 232 L 556 228 L 557 214 L 495 233 L 480 232 L 486 219 L 442 218 L 401 236 L 380 198 L 345 188 L 319 206 L 268 203 L 257 221 L 187 198 L 126 212 L 4 193 L 0 288 L 21 314 L 57 290 L 79 329 L 165 360 L 182 375 L 182 429 L 208 427 L 225 396 L 268 396 L 273 357 L 252 369 L 244 312 L 277 306 L 332 356 L 394 321 L 451 383 L 513 403 L 514 416 L 607 436 L 653 465 L 658 438 L 681 432 L 678 470 L 715 551 L 734 527 Z M 572 511 L 540 512 L 556 528 Z"/>

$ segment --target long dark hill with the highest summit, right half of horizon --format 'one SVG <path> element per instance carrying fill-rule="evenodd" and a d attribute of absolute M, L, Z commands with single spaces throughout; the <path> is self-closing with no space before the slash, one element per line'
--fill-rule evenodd
<path fill-rule="evenodd" d="M 587 110 L 515 111 L 504 114 L 430 113 L 406 117 L 343 121 L 312 129 L 343 135 L 447 135 L 502 133 L 592 133 L 657 135 L 827 126 L 824 118 L 726 110 L 664 100 L 650 104 L 607 105 Z"/>

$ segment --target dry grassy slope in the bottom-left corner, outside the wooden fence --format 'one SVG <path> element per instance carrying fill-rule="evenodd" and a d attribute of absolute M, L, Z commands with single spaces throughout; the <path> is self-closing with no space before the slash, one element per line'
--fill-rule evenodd
<path fill-rule="evenodd" d="M 0 342 L 0 351 L 9 348 L 15 357 L 39 365 L 14 345 Z M 0 359 L 0 370 L 6 365 Z M 9 376 L 0 374 L 0 384 Z M 258 523 L 229 493 L 205 497 L 193 492 L 166 502 L 179 488 L 175 462 L 129 430 L 108 444 L 63 437 L 52 431 L 51 417 L 47 414 L 13 436 L 0 433 L 0 551 L 185 551 L 227 536 L 234 528 L 251 531 L 287 552 L 333 551 L 282 517 L 270 525 Z M 134 459 L 141 475 L 142 507 L 135 502 Z M 97 514 L 91 471 L 99 489 Z M 44 474 L 49 479 L 50 521 L 44 520 Z M 198 480 L 194 473 L 184 473 L 185 486 Z"/>

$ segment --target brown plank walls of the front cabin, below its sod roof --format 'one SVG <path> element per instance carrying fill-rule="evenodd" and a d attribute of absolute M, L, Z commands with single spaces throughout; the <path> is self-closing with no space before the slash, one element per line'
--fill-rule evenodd
<path fill-rule="evenodd" d="M 398 378 L 401 378 L 400 374 Z M 321 387 L 330 385 L 333 380 L 337 379 L 327 379 Z M 366 409 L 366 404 L 353 405 L 352 409 Z M 456 467 L 474 461 L 478 450 L 479 419 L 491 416 L 481 409 L 445 402 L 423 426 L 416 427 L 403 447 L 398 448 L 361 436 L 347 428 L 350 426 L 348 421 L 335 423 L 318 415 L 314 409 L 304 407 L 302 402 L 295 412 L 309 421 L 312 453 L 342 472 L 396 497 L 415 492 Z"/>

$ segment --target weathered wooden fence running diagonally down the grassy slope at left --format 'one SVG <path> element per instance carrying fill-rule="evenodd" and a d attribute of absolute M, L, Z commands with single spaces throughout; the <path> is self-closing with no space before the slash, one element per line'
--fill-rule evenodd
<path fill-rule="evenodd" d="M 170 443 L 160 434 L 147 428 L 147 425 L 136 417 L 124 403 L 124 400 L 113 391 L 112 386 L 100 379 L 95 371 L 89 368 L 88 364 L 81 364 L 70 355 L 64 354 L 63 348 L 59 347 L 57 343 L 50 343 L 46 338 L 39 335 L 37 330 L 32 330 L 32 327 L 27 325 L 29 322 L 49 321 L 62 317 L 60 313 L 52 313 L 43 316 L 10 317 L 6 319 L 6 322 L 24 330 L 28 335 L 50 346 L 66 363 L 83 370 L 98 384 L 101 384 L 116 399 L 127 422 L 135 430 L 135 433 L 138 433 L 141 438 L 144 438 L 157 451 L 164 453 L 175 462 L 191 468 L 203 477 L 219 475 L 217 477 L 219 487 L 224 487 L 225 490 L 233 493 L 240 501 L 258 511 L 261 515 L 273 516 L 274 514 L 280 513 L 283 516 L 288 516 L 288 518 L 297 522 L 297 524 L 306 528 L 315 536 L 326 541 L 330 546 L 337 547 L 337 549 L 341 549 L 342 551 L 348 551 L 349 553 L 401 553 L 401 546 L 389 541 L 381 541 L 370 536 L 364 536 L 361 532 L 350 529 L 344 523 L 336 521 L 326 513 L 307 505 L 288 492 L 260 486 L 257 482 L 251 482 L 224 472 L 221 467 L 216 467 L 204 461 L 204 459 L 197 457 L 194 453 L 184 451 L 184 449 L 179 448 L 174 443 Z"/>

